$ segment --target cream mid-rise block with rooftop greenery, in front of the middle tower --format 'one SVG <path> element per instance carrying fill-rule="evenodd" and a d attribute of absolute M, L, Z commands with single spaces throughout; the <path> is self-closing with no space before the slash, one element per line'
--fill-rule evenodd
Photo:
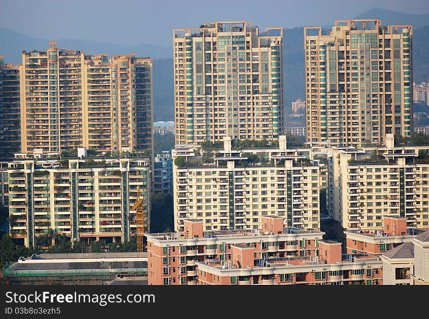
<path fill-rule="evenodd" d="M 271 150 L 232 150 L 225 137 L 224 150 L 206 164 L 192 151 L 174 150 L 176 231 L 188 218 L 202 219 L 205 231 L 257 229 L 267 215 L 280 216 L 286 227 L 319 230 L 320 169 L 300 154 L 286 150 L 285 136 Z M 178 167 L 180 157 L 188 162 Z"/>

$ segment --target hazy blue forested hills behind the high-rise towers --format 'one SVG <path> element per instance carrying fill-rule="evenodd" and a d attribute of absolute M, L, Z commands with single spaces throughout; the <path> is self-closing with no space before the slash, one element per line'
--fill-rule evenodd
<path fill-rule="evenodd" d="M 350 17 L 339 17 L 348 19 Z M 413 30 L 413 80 L 429 81 L 429 15 L 410 15 L 380 8 L 371 9 L 355 19 L 380 19 L 387 24 L 411 24 Z M 330 27 L 324 28 L 329 31 Z M 304 28 L 284 29 L 284 102 L 290 113 L 291 102 L 305 99 Z M 57 39 L 59 47 L 78 49 L 85 54 L 107 53 L 110 56 L 136 53 L 150 56 L 154 61 L 154 120 L 174 120 L 174 78 L 172 47 L 139 43 L 119 45 L 89 40 Z M 21 51 L 45 50 L 47 39 L 31 38 L 0 28 L 0 55 L 6 63 L 19 64 Z"/>

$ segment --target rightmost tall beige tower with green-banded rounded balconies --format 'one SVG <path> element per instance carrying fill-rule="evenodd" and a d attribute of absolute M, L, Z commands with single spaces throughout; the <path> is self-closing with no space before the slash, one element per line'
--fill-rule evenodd
<path fill-rule="evenodd" d="M 360 147 L 412 134 L 412 26 L 335 21 L 304 38 L 308 141 Z"/>

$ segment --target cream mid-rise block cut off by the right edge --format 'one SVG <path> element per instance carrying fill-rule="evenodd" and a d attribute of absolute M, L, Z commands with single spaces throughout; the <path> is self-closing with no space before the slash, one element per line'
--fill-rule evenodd
<path fill-rule="evenodd" d="M 429 162 L 417 150 L 336 149 L 329 158 L 329 212 L 345 229 L 382 230 L 384 217 L 429 229 Z"/>

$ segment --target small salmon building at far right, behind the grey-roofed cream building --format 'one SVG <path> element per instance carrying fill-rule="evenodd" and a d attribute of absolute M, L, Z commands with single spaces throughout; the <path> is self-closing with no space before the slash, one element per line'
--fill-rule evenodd
<path fill-rule="evenodd" d="M 348 254 L 380 255 L 412 239 L 424 230 L 407 229 L 407 218 L 384 217 L 384 229 L 345 231 Z"/>

